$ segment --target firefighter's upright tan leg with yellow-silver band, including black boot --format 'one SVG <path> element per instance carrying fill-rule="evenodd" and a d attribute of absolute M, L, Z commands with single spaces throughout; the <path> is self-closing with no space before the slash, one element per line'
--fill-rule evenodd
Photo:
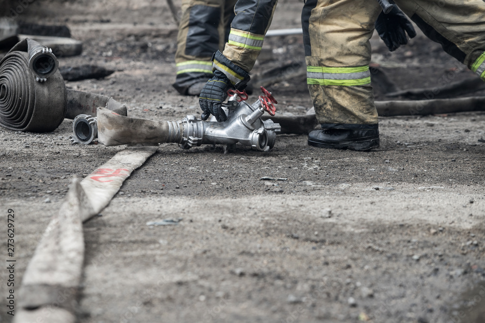
<path fill-rule="evenodd" d="M 307 83 L 323 129 L 311 132 L 308 144 L 379 146 L 369 39 L 380 12 L 375 0 L 307 0 L 302 12 Z"/>

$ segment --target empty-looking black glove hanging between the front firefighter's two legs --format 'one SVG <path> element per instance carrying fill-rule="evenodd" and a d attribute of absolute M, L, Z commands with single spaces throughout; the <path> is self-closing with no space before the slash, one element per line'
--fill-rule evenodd
<path fill-rule="evenodd" d="M 407 44 L 406 31 L 410 38 L 416 36 L 416 31 L 406 15 L 399 10 L 397 5 L 392 6 L 394 8 L 387 15 L 381 12 L 375 22 L 375 29 L 379 33 L 379 37 L 391 52 L 398 49 L 399 46 Z"/>

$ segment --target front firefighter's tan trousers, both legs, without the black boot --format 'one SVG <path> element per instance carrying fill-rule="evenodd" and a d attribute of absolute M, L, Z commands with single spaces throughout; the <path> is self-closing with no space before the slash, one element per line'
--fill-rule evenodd
<path fill-rule="evenodd" d="M 429 38 L 485 79 L 483 0 L 395 3 Z M 304 6 L 307 83 L 323 127 L 377 126 L 369 39 L 380 12 L 376 0 L 307 0 Z"/>

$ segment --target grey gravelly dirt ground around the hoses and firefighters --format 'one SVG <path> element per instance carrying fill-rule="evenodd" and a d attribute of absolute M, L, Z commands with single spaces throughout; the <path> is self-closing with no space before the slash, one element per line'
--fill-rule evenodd
<path fill-rule="evenodd" d="M 299 27 L 302 5 L 281 0 L 272 28 Z M 165 1 L 38 0 L 23 15 L 62 22 L 83 42 L 83 54 L 60 67 L 115 71 L 68 88 L 113 96 L 133 117 L 200 114 L 196 97 L 171 87 L 177 26 Z M 297 35 L 264 46 L 273 60 L 253 74 L 303 55 Z M 376 37 L 372 46 L 372 63 L 399 90 L 473 77 L 422 34 L 393 53 Z M 312 106 L 304 78 L 269 90 L 281 115 Z M 381 147 L 368 153 L 310 147 L 305 135 L 280 135 L 268 153 L 161 145 L 103 216 L 84 224 L 78 321 L 483 322 L 484 112 L 379 122 Z M 70 178 L 124 149 L 73 145 L 71 127 L 0 129 L 0 205 L 16 211 L 16 281 Z M 146 225 L 167 218 L 183 221 Z"/>

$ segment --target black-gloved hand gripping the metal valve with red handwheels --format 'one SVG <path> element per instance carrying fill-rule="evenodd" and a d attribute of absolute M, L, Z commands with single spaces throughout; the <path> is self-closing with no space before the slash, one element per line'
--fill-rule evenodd
<path fill-rule="evenodd" d="M 207 81 L 200 92 L 199 105 L 204 111 L 200 116 L 202 120 L 206 121 L 210 114 L 213 114 L 217 122 L 226 121 L 226 112 L 224 112 L 221 104 L 226 100 L 227 91 L 231 88 L 233 86 L 226 75 L 215 70 L 214 76 Z"/>

